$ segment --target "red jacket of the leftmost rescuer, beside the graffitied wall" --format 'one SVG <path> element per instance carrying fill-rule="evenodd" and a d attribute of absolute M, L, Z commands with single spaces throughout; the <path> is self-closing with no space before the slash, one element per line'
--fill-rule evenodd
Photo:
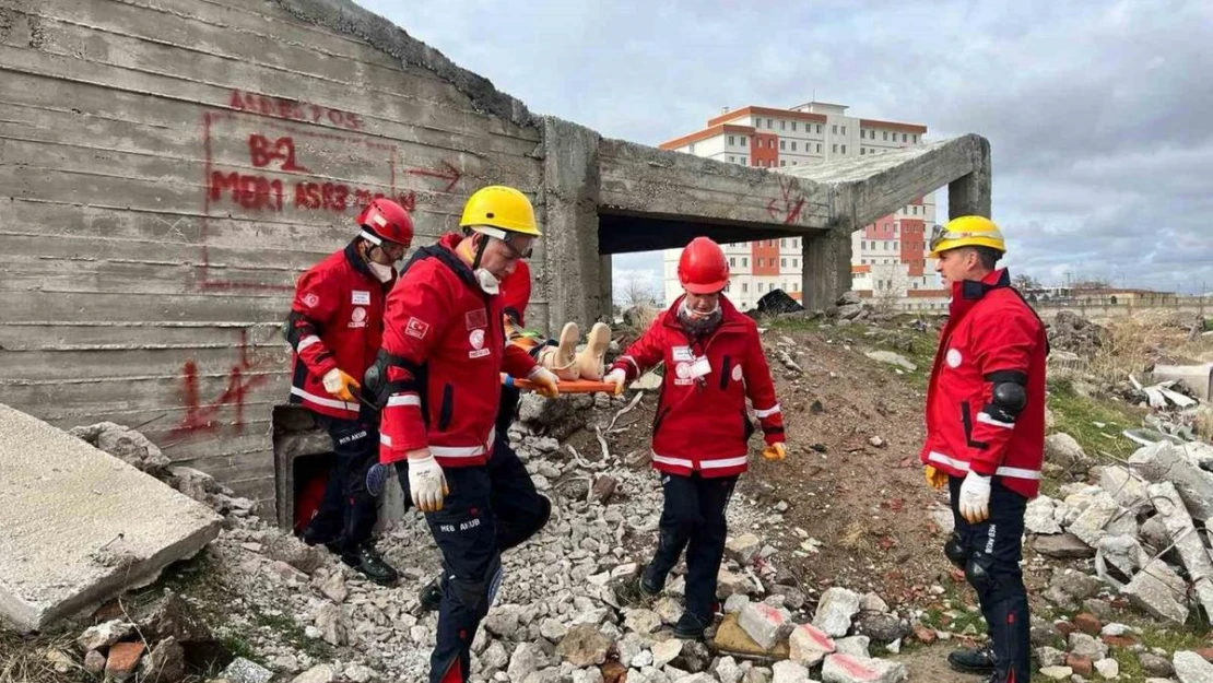
<path fill-rule="evenodd" d="M 334 398 L 321 380 L 338 368 L 363 381 L 378 353 L 391 286 L 371 273 L 354 241 L 300 277 L 286 321 L 294 351 L 291 403 L 330 417 L 358 419 L 358 403 Z"/>

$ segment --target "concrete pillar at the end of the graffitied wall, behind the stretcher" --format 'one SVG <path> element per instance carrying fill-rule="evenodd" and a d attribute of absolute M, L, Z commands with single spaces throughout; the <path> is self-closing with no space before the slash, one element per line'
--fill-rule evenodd
<path fill-rule="evenodd" d="M 598 143 L 594 131 L 543 118 L 545 285 L 547 332 L 585 325 L 610 311 L 598 254 Z M 608 272 L 608 278 L 609 272 Z M 536 283 L 539 285 L 539 283 Z"/>

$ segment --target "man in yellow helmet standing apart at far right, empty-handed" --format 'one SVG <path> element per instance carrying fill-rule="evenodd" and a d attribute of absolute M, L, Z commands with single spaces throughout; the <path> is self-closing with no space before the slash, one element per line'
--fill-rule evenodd
<path fill-rule="evenodd" d="M 998 227 L 962 216 L 932 235 L 935 269 L 952 290 L 927 388 L 927 482 L 949 488 L 956 530 L 944 552 L 976 591 L 987 645 L 949 664 L 1026 683 L 1031 621 L 1024 591 L 1024 511 L 1037 495 L 1044 455 L 1044 325 L 998 268 Z"/>

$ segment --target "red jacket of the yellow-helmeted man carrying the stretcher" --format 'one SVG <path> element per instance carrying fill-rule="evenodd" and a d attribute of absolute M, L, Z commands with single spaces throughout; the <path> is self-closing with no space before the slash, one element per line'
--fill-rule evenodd
<path fill-rule="evenodd" d="M 387 298 L 383 351 L 403 359 L 383 409 L 380 461 L 429 448 L 443 467 L 484 465 L 492 451 L 501 372 L 525 377 L 535 360 L 506 343 L 501 296 L 484 294 L 444 235 L 417 250 Z"/>

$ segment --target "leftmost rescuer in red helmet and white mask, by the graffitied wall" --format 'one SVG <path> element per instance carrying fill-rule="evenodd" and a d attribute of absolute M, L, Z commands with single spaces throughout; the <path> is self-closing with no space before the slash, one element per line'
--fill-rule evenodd
<path fill-rule="evenodd" d="M 377 516 L 378 414 L 359 402 L 358 379 L 375 362 L 393 263 L 412 241 L 412 218 L 389 199 L 358 216 L 361 232 L 300 277 L 286 324 L 294 349 L 291 403 L 302 404 L 332 438 L 336 456 L 324 497 L 302 536 L 323 543 L 377 584 L 397 571 L 371 539 Z M 369 477 L 371 476 L 371 477 Z"/>

